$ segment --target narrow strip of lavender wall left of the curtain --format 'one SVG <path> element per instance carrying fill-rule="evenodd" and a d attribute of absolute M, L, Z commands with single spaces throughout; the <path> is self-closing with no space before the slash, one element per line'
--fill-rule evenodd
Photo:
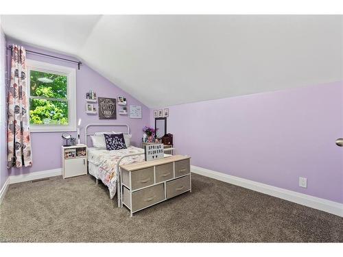
<path fill-rule="evenodd" d="M 1 18 L 0 18 L 1 19 Z M 5 34 L 0 21 L 0 191 L 8 178 L 6 147 L 6 100 L 5 100 Z"/>

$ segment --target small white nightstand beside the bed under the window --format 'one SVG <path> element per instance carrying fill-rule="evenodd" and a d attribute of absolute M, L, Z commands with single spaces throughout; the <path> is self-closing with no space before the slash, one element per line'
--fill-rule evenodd
<path fill-rule="evenodd" d="M 87 174 L 87 146 L 62 146 L 62 175 L 71 178 Z"/>

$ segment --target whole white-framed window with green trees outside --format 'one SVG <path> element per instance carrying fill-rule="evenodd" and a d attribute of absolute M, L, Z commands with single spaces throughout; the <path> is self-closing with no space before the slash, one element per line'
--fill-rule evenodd
<path fill-rule="evenodd" d="M 76 130 L 75 69 L 27 60 L 31 132 Z"/>

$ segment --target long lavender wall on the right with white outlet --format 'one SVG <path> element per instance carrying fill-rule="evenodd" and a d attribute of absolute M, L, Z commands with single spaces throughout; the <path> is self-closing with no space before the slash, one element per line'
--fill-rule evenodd
<path fill-rule="evenodd" d="M 169 106 L 167 130 L 195 166 L 343 203 L 342 112 L 340 82 Z"/>

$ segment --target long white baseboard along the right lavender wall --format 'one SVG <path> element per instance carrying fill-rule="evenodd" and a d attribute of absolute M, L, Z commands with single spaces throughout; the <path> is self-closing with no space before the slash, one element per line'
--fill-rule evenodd
<path fill-rule="evenodd" d="M 343 204 L 191 165 L 191 172 L 343 217 Z"/>

